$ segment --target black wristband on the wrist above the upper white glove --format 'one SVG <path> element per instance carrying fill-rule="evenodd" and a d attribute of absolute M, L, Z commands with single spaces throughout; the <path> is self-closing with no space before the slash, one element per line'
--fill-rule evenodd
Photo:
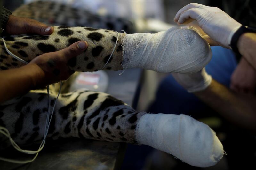
<path fill-rule="evenodd" d="M 239 37 L 243 34 L 243 33 L 256 33 L 256 28 L 252 28 L 252 27 L 249 27 L 249 26 L 241 26 L 240 28 L 238 28 L 238 30 L 234 33 L 234 35 L 232 36 L 231 38 L 231 42 L 230 42 L 230 48 L 238 53 L 238 48 L 237 48 L 237 41 L 239 39 Z"/>

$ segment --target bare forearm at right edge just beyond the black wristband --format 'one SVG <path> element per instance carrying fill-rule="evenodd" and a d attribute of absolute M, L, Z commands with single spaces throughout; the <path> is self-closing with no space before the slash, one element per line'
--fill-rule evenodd
<path fill-rule="evenodd" d="M 256 33 L 244 33 L 237 41 L 241 55 L 256 69 Z"/>

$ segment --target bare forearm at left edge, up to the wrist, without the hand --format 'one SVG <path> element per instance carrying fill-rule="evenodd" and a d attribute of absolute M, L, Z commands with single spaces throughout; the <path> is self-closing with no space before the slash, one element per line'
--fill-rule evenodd
<path fill-rule="evenodd" d="M 0 71 L 0 102 L 36 88 L 44 72 L 36 64 Z"/>

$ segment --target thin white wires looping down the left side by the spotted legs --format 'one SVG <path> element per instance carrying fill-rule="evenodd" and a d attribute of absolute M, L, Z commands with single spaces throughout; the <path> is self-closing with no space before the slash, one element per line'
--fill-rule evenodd
<path fill-rule="evenodd" d="M 4 42 L 4 47 L 6 49 L 6 51 L 14 58 L 16 58 L 17 60 L 19 60 L 20 62 L 23 62 L 23 63 L 28 63 L 24 60 L 22 60 L 21 58 L 17 57 L 16 55 L 12 54 L 12 52 L 10 52 L 8 50 L 8 48 L 6 47 L 6 44 L 5 44 L 5 41 L 4 39 L 2 38 L 3 42 Z M 10 135 L 10 132 L 8 131 L 8 129 L 0 126 L 0 133 L 2 133 L 4 136 L 8 137 L 12 146 L 17 150 L 17 151 L 20 151 L 22 153 L 26 153 L 26 154 L 36 154 L 35 157 L 31 160 L 25 160 L 25 161 L 21 161 L 21 160 L 13 160 L 13 159 L 7 159 L 7 158 L 3 158 L 3 157 L 0 157 L 0 160 L 3 160 L 3 161 L 7 161 L 7 162 L 12 162 L 12 163 L 19 163 L 19 164 L 25 164 L 25 163 L 29 163 L 29 162 L 33 162 L 38 153 L 44 148 L 44 144 L 45 144 L 45 140 L 46 140 L 46 137 L 47 137 L 47 134 L 48 134 L 48 130 L 49 130 L 49 127 L 50 127 L 50 122 L 52 120 L 52 115 L 53 115 L 53 112 L 54 112 L 54 108 L 56 106 L 56 103 L 57 103 L 57 100 L 58 100 L 58 97 L 60 95 L 60 92 L 61 92 L 61 87 L 62 87 L 62 82 L 60 81 L 60 90 L 59 90 L 59 93 L 56 97 L 56 100 L 54 102 L 54 105 L 53 105 L 53 108 L 52 108 L 52 114 L 51 114 L 51 118 L 50 118 L 50 111 L 51 111 L 51 100 L 50 100 L 50 92 L 49 92 L 49 85 L 47 86 L 47 94 L 48 94 L 48 112 L 47 112 L 47 116 L 46 116 L 46 122 L 45 122 L 45 128 L 44 128 L 44 139 L 42 141 L 42 143 L 40 144 L 39 148 L 37 151 L 31 151 L 31 150 L 23 150 L 21 149 L 15 142 L 14 140 L 12 139 L 11 135 Z M 49 120 L 50 118 L 50 120 Z"/>

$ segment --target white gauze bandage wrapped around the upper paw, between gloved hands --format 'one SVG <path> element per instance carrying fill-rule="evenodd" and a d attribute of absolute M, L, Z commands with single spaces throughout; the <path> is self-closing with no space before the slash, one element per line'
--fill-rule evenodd
<path fill-rule="evenodd" d="M 209 44 L 192 29 L 176 26 L 156 34 L 124 35 L 124 69 L 194 73 L 204 68 L 211 57 Z"/>

